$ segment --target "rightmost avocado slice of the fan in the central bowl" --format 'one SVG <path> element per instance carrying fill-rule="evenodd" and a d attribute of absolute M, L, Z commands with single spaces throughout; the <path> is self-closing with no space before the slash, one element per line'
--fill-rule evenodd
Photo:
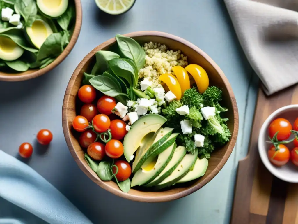
<path fill-rule="evenodd" d="M 208 159 L 197 158 L 197 160 L 195 161 L 193 170 L 189 171 L 188 174 L 186 174 L 182 179 L 178 180 L 177 184 L 191 181 L 203 176 L 207 170 L 207 167 L 208 167 Z"/>

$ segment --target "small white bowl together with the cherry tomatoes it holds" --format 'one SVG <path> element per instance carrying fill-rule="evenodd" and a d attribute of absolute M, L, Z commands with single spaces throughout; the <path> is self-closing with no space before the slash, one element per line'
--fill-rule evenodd
<path fill-rule="evenodd" d="M 262 162 L 274 176 L 298 183 L 298 105 L 282 107 L 266 119 L 258 149 Z"/>

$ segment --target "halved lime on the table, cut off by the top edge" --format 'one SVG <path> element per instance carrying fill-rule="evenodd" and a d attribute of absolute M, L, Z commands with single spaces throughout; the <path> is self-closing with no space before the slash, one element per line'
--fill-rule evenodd
<path fill-rule="evenodd" d="M 105 13 L 119 15 L 128 11 L 136 0 L 95 0 L 95 3 Z"/>

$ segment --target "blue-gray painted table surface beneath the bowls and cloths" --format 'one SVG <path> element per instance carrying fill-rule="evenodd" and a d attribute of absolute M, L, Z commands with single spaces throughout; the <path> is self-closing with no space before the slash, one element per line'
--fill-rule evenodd
<path fill-rule="evenodd" d="M 55 69 L 24 82 L 0 82 L 0 149 L 17 156 L 22 142 L 32 142 L 27 164 L 52 183 L 93 223 L 229 223 L 238 160 L 245 157 L 254 114 L 258 78 L 239 45 L 221 0 L 137 0 L 120 16 L 106 16 L 93 0 L 82 0 L 83 24 L 77 44 Z M 97 186 L 77 166 L 61 125 L 64 92 L 76 66 L 94 47 L 140 30 L 157 30 L 184 38 L 204 50 L 224 71 L 239 110 L 236 147 L 219 174 L 201 190 L 164 203 L 133 202 Z M 36 144 L 41 128 L 54 138 L 47 150 Z M 245 175 L 245 174 L 244 174 Z M 44 223 L 0 198 L 0 217 Z"/>

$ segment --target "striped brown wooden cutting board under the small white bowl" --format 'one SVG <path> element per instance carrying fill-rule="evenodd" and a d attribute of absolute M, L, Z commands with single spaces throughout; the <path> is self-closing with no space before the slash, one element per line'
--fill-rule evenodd
<path fill-rule="evenodd" d="M 273 96 L 266 96 L 259 88 L 248 154 L 239 161 L 231 224 L 298 224 L 298 184 L 274 177 L 257 149 L 263 122 L 290 104 L 298 104 L 298 85 Z"/>

